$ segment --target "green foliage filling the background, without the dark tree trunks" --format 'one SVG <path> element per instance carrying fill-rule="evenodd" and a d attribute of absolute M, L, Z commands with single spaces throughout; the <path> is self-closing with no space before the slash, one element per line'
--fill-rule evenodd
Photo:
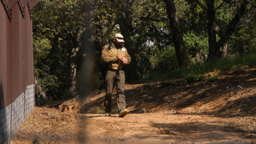
<path fill-rule="evenodd" d="M 34 76 L 36 84 L 36 103 L 67 98 L 70 96 L 67 87 L 67 77 L 70 75 L 71 51 L 81 44 L 79 31 L 90 29 L 93 37 L 89 39 L 94 50 L 92 64 L 95 66 L 93 76 L 94 89 L 101 89 L 104 83 L 106 67 L 101 62 L 100 44 L 109 43 L 115 33 L 120 33 L 117 15 L 123 14 L 134 45 L 135 58 L 138 62 L 138 73 L 145 81 L 165 81 L 168 78 L 184 78 L 185 83 L 202 81 L 205 74 L 213 71 L 237 69 L 247 65 L 255 65 L 255 55 L 236 58 L 243 47 L 247 53 L 255 53 L 255 1 L 250 1 L 247 13 L 241 20 L 234 35 L 228 41 L 228 58 L 204 63 L 203 56 L 208 53 L 207 13 L 205 1 L 175 0 L 180 30 L 189 60 L 195 63 L 195 54 L 199 53 L 200 65 L 178 68 L 173 39 L 167 19 L 164 1 L 90 1 L 92 5 L 84 5 L 88 1 L 43 0 L 33 9 L 34 33 Z M 223 3 L 222 3 L 223 2 Z M 238 2 L 215 1 L 217 19 L 217 40 L 222 35 L 231 18 L 237 12 Z M 89 11 L 85 13 L 85 11 Z M 90 14 L 89 14 L 90 13 Z M 90 17 L 91 19 L 85 18 Z M 109 35 L 105 35 L 111 26 Z M 88 33 L 89 33 L 88 32 Z M 87 33 L 87 31 L 86 31 Z M 241 45 L 242 44 L 242 45 Z M 221 53 L 221 51 L 220 51 Z M 86 55 L 86 49 L 78 58 L 77 87 L 81 79 L 81 65 Z M 126 71 L 129 73 L 129 71 Z M 207 79 L 214 79 L 211 75 Z M 161 83 L 169 86 L 170 83 Z M 38 89 L 38 86 L 42 90 Z M 143 85 L 145 89 L 150 84 Z M 42 99 L 42 92 L 47 99 Z"/>

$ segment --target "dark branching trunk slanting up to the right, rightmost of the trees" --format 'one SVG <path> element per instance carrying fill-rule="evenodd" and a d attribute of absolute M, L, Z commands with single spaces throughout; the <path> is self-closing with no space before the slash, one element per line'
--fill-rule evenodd
<path fill-rule="evenodd" d="M 223 36 L 221 36 L 221 38 L 219 39 L 219 41 L 217 43 L 215 43 L 214 45 L 209 44 L 209 56 L 207 58 L 207 61 L 212 61 L 215 59 L 215 55 L 214 53 L 217 52 L 220 47 L 222 47 L 230 38 L 230 36 L 233 34 L 237 23 L 240 21 L 241 17 L 243 17 L 245 10 L 246 10 L 246 5 L 249 2 L 243 1 L 243 3 L 241 4 L 241 7 L 237 10 L 237 14 L 235 15 L 235 17 L 230 21 L 228 27 L 226 28 L 226 32 L 225 34 L 223 34 Z"/>

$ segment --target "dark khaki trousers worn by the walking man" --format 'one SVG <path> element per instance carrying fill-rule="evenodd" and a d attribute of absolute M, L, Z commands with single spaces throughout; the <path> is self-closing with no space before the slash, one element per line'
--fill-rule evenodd
<path fill-rule="evenodd" d="M 117 90 L 117 106 L 119 112 L 124 110 L 126 107 L 125 95 L 124 95 L 124 84 L 125 84 L 125 75 L 123 70 L 113 70 L 108 69 L 106 75 L 106 96 L 105 96 L 105 112 L 111 113 L 111 100 L 114 87 L 116 85 Z"/>

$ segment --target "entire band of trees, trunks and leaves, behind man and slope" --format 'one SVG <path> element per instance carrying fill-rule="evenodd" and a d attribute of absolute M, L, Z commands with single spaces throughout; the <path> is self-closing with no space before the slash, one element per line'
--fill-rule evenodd
<path fill-rule="evenodd" d="M 255 9 L 255 1 L 245 0 L 42 0 L 33 9 L 38 104 L 78 94 L 88 47 L 93 89 L 101 89 L 101 50 L 115 33 L 124 36 L 132 57 L 126 82 L 151 71 L 253 53 Z"/>

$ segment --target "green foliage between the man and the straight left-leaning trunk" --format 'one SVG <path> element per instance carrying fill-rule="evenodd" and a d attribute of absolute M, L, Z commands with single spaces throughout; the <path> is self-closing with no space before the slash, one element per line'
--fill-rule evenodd
<path fill-rule="evenodd" d="M 130 34 L 136 48 L 134 51 L 140 76 L 145 76 L 151 70 L 167 70 L 176 65 L 177 60 L 170 63 L 175 59 L 175 52 L 171 48 L 173 45 L 164 1 L 134 1 L 129 14 Z"/>

